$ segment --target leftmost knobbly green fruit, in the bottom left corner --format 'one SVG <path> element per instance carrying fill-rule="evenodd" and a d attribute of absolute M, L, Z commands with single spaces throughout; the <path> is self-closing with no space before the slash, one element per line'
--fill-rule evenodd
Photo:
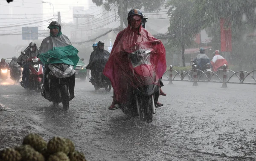
<path fill-rule="evenodd" d="M 0 151 L 1 161 L 21 161 L 20 153 L 14 148 L 6 148 Z"/>

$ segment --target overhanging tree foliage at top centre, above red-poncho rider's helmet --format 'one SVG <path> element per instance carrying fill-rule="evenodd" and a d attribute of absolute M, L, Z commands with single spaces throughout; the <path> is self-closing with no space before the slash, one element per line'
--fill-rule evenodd
<path fill-rule="evenodd" d="M 122 15 L 123 23 L 125 23 L 126 26 L 128 26 L 128 9 L 141 9 L 144 7 L 144 11 L 157 11 L 164 5 L 164 2 L 165 0 L 106 0 L 106 2 L 103 3 L 103 0 L 93 0 L 93 3 L 97 6 L 103 5 L 107 11 L 113 9 L 113 6 L 116 6 L 118 8 L 118 15 L 120 17 Z"/>

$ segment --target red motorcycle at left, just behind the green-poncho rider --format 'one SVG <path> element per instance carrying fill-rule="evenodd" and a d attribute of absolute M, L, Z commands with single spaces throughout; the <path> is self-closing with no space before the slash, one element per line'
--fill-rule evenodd
<path fill-rule="evenodd" d="M 21 54 L 23 56 L 25 55 L 25 52 L 21 51 Z M 42 93 L 42 80 L 43 80 L 43 67 L 40 64 L 40 59 L 37 58 L 36 56 L 28 58 L 27 62 L 29 62 L 29 80 L 28 80 L 28 88 L 31 90 L 35 90 L 36 92 L 41 92 Z M 25 88 L 25 83 L 20 82 L 20 85 Z"/>

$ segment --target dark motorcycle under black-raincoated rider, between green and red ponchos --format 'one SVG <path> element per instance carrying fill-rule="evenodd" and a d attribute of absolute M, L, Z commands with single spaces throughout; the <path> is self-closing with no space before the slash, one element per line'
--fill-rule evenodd
<path fill-rule="evenodd" d="M 100 66 L 97 66 L 96 71 L 93 71 L 95 73 L 95 78 L 90 78 L 90 82 L 94 85 L 95 90 L 105 88 L 105 90 L 109 92 L 112 88 L 111 81 L 102 72 L 107 61 L 108 58 L 104 57 L 93 62 L 93 64 L 100 64 Z"/>

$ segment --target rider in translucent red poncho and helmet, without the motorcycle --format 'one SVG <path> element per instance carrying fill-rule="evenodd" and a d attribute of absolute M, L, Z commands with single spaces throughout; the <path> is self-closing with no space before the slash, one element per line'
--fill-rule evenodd
<path fill-rule="evenodd" d="M 103 71 L 104 75 L 111 80 L 114 90 L 113 102 L 109 109 L 115 108 L 119 102 L 128 101 L 124 97 L 128 91 L 127 88 L 133 85 L 130 81 L 132 80 L 131 63 L 122 53 L 130 53 L 140 46 L 151 47 L 153 51 L 150 61 L 155 65 L 158 78 L 161 78 L 166 71 L 166 53 L 163 43 L 142 27 L 142 12 L 132 9 L 129 11 L 127 19 L 129 25 L 117 34 L 111 55 Z M 166 94 L 160 90 L 160 95 L 165 96 Z"/>

